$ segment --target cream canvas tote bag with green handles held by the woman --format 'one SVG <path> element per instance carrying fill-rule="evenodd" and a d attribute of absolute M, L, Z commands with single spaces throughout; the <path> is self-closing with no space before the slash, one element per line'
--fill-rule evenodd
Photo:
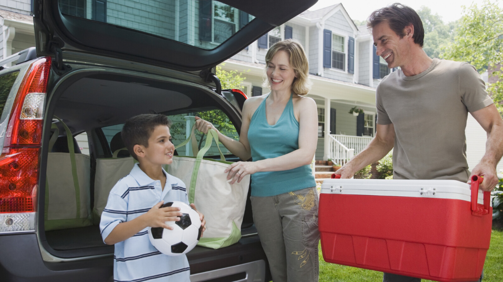
<path fill-rule="evenodd" d="M 176 148 L 187 144 L 191 136 Z M 245 175 L 239 183 L 230 184 L 227 173 L 223 171 L 232 162 L 225 161 L 220 148 L 220 160 L 203 158 L 213 140 L 218 147 L 217 132 L 210 129 L 206 143 L 197 156 L 173 156 L 173 163 L 167 167 L 167 172 L 184 181 L 189 202 L 194 203 L 204 215 L 206 231 L 198 245 L 218 249 L 232 245 L 241 238 L 250 176 Z"/>

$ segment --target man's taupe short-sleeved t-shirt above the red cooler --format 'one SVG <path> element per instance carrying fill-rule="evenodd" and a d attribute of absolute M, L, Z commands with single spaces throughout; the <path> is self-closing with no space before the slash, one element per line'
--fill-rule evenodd
<path fill-rule="evenodd" d="M 468 112 L 493 102 L 468 63 L 434 59 L 424 72 L 384 77 L 376 92 L 377 123 L 395 128 L 393 178 L 466 182 Z"/>

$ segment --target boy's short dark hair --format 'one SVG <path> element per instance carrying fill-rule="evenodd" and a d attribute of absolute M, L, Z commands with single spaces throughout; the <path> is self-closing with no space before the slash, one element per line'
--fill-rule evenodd
<path fill-rule="evenodd" d="M 171 121 L 162 114 L 143 114 L 130 118 L 122 128 L 122 142 L 133 158 L 138 160 L 138 156 L 134 153 L 134 145 L 143 145 L 148 147 L 148 139 L 155 127 L 165 125 L 171 127 Z"/>

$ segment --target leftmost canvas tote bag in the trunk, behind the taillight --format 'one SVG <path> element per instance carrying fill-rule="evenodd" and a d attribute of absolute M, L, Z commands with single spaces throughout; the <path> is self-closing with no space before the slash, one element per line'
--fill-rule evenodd
<path fill-rule="evenodd" d="M 92 225 L 91 221 L 91 157 L 75 153 L 73 137 L 66 131 L 69 153 L 48 153 L 45 183 L 45 230 L 76 228 Z M 49 141 L 52 150 L 59 131 Z"/>

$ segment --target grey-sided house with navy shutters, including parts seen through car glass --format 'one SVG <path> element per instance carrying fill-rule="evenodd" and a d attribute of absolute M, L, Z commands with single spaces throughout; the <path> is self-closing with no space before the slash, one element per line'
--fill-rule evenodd
<path fill-rule="evenodd" d="M 35 45 L 31 3 L 30 0 L 0 2 L 2 58 Z M 123 0 L 59 0 L 59 8 L 63 14 L 135 28 L 205 49 L 225 41 L 253 20 L 251 15 L 211 0 L 173 0 L 173 5 L 155 0 L 145 5 Z M 170 17 L 173 13 L 183 16 L 175 20 L 176 17 Z M 171 23 L 168 26 L 174 28 L 163 28 L 159 23 Z M 392 70 L 375 55 L 367 28 L 357 27 L 341 3 L 302 12 L 246 46 L 226 60 L 222 68 L 245 70 L 243 91 L 248 96 L 262 95 L 268 91 L 262 87 L 267 50 L 275 42 L 288 38 L 298 40 L 309 59 L 313 86 L 308 96 L 318 106 L 315 159 L 331 158 L 344 163 L 375 135 L 375 88 Z M 353 107 L 363 109 L 364 113 L 350 114 Z M 76 138 L 86 153 L 86 135 Z M 475 141 L 479 142 L 482 141 Z"/>

